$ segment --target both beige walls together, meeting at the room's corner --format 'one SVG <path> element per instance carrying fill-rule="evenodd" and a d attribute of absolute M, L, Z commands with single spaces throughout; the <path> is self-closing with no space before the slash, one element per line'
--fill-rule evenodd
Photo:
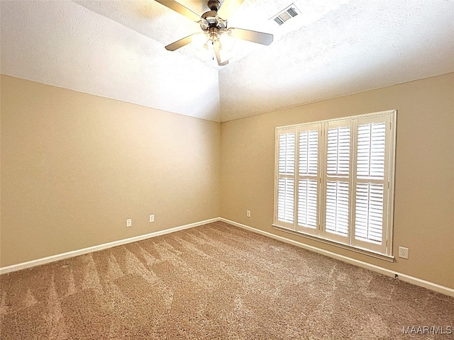
<path fill-rule="evenodd" d="M 220 125 L 1 76 L 0 266 L 221 216 L 454 288 L 453 97 L 447 74 Z M 272 229 L 275 127 L 394 108 L 409 260 Z"/>

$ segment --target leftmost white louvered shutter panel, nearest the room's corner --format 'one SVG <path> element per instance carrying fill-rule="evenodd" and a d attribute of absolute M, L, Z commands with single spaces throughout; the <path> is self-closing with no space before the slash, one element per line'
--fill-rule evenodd
<path fill-rule="evenodd" d="M 296 131 L 279 132 L 277 174 L 277 220 L 293 224 L 295 195 Z"/>

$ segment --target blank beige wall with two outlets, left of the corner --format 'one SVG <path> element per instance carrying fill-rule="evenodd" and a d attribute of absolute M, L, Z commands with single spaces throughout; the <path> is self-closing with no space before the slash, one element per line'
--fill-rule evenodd
<path fill-rule="evenodd" d="M 218 217 L 220 132 L 2 75 L 0 266 Z"/>

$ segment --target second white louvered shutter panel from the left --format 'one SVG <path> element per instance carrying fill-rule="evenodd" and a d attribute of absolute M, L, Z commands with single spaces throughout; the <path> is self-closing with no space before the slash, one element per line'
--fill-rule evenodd
<path fill-rule="evenodd" d="M 297 229 L 314 234 L 319 210 L 319 125 L 301 127 L 298 140 Z"/>

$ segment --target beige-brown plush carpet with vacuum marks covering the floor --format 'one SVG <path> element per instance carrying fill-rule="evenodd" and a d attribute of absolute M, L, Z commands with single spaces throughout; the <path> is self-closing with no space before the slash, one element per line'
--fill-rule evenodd
<path fill-rule="evenodd" d="M 453 327 L 454 298 L 223 222 L 0 283 L 1 340 L 454 338 L 403 334 Z"/>

